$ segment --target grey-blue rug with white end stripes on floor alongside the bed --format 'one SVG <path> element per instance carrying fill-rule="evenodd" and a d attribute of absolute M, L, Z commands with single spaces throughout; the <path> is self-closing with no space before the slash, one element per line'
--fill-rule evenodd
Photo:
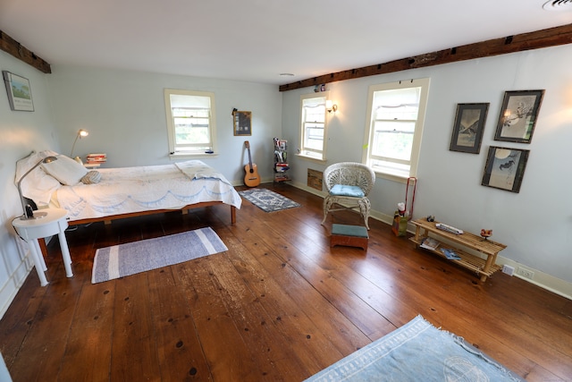
<path fill-rule="evenodd" d="M 91 283 L 135 275 L 224 250 L 228 248 L 210 227 L 100 248 L 93 260 Z"/>

